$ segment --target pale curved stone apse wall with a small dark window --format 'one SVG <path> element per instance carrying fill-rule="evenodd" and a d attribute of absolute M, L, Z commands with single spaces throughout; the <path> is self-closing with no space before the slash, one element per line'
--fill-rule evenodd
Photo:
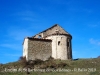
<path fill-rule="evenodd" d="M 72 59 L 71 37 L 65 35 L 52 35 L 47 39 L 52 39 L 52 57 L 55 59 Z"/>

